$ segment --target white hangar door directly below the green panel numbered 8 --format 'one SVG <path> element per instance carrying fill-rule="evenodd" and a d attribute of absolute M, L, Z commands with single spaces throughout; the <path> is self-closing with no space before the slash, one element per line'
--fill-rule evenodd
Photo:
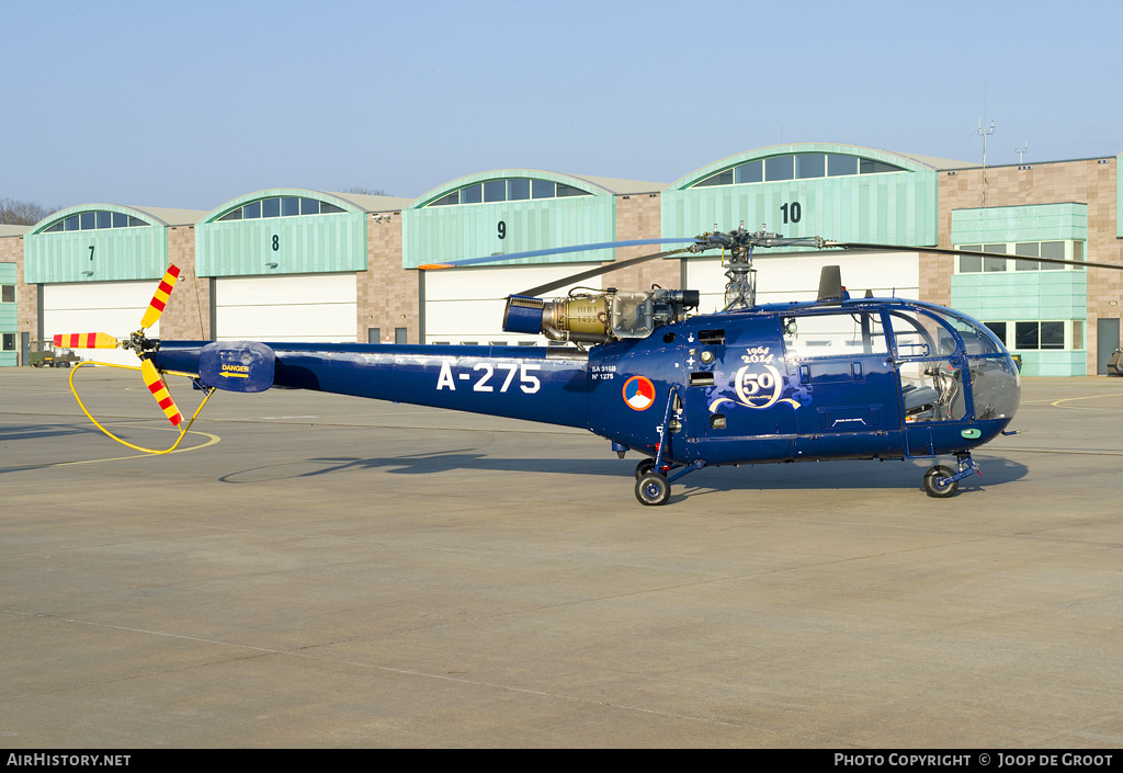
<path fill-rule="evenodd" d="M 219 278 L 214 290 L 219 340 L 357 340 L 354 273 Z"/>

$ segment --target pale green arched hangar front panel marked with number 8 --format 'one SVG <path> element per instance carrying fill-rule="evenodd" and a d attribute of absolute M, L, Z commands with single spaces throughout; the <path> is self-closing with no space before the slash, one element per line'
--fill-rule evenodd
<path fill-rule="evenodd" d="M 275 197 L 318 199 L 347 211 L 218 221 L 236 207 Z M 366 271 L 366 217 L 350 202 L 316 191 L 257 191 L 211 211 L 197 226 L 195 271 L 200 276 Z"/>

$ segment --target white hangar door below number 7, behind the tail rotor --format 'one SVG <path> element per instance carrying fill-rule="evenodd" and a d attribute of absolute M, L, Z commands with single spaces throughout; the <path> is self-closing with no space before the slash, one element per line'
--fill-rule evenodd
<path fill-rule="evenodd" d="M 43 335 L 51 339 L 57 334 L 108 333 L 128 338 L 140 328 L 140 318 L 148 309 L 156 283 L 80 282 L 43 285 Z M 159 337 L 159 322 L 145 330 L 150 338 Z M 137 357 L 125 349 L 75 349 L 83 360 L 136 365 Z"/>

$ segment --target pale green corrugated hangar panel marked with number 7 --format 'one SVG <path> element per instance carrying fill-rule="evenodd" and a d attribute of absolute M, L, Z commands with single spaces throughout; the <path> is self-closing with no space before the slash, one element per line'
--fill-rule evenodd
<path fill-rule="evenodd" d="M 99 206 L 99 209 L 108 208 Z M 164 226 L 24 237 L 24 281 L 28 284 L 159 279 L 167 263 L 167 228 Z"/>

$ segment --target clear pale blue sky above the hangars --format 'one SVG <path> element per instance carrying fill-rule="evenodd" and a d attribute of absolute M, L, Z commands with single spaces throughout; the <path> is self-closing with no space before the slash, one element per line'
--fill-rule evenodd
<path fill-rule="evenodd" d="M 4 2 L 0 198 L 211 209 L 532 167 L 656 182 L 780 142 L 1123 152 L 1085 2 Z"/>

